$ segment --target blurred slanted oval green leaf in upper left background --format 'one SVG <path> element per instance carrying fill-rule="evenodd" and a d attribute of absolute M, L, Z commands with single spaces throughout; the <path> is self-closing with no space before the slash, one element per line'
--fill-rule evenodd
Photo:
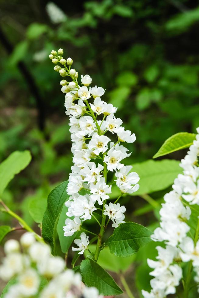
<path fill-rule="evenodd" d="M 27 51 L 28 51 L 28 42 L 27 42 L 27 40 L 23 40 L 23 41 L 19 42 L 15 46 L 12 54 L 9 57 L 9 66 L 13 67 L 19 61 L 21 61 L 25 57 Z"/>

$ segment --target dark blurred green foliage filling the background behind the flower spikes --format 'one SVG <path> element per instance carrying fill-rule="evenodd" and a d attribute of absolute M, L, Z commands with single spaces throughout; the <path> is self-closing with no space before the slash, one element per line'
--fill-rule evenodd
<path fill-rule="evenodd" d="M 46 206 L 53 185 L 68 179 L 72 165 L 64 95 L 48 58 L 52 49 L 63 48 L 79 74 L 91 75 L 94 85 L 106 88 L 103 99 L 118 106 L 117 116 L 137 137 L 129 144 L 129 164 L 152 158 L 174 133 L 195 133 L 199 126 L 197 2 L 54 3 L 60 15 L 56 9 L 49 13 L 47 1 L 0 3 L 0 161 L 16 150 L 29 149 L 32 155 L 29 167 L 2 198 L 29 224 L 32 200 L 36 198 L 38 208 Z M 183 155 L 180 151 L 170 157 Z M 152 197 L 160 201 L 165 192 Z M 145 225 L 155 222 L 157 211 L 149 213 L 151 206 L 143 200 L 124 200 L 130 210 L 127 218 Z M 3 224 L 9 220 L 1 215 Z M 146 269 L 147 256 L 142 258 Z M 138 274 L 143 274 L 142 267 Z"/>

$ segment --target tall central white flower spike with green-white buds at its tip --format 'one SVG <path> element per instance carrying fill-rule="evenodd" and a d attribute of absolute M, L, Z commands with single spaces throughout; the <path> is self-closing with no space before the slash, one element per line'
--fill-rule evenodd
<path fill-rule="evenodd" d="M 65 113 L 70 119 L 74 163 L 67 188 L 70 198 L 65 203 L 68 207 L 67 217 L 74 219 L 67 218 L 64 227 L 65 236 L 71 236 L 81 229 L 83 221 L 91 219 L 97 204 L 98 207 L 103 205 L 102 213 L 113 221 L 113 227 L 124 222 L 125 207 L 119 203 L 106 204 L 111 193 L 111 185 L 106 179 L 107 172 L 115 172 L 113 182 L 116 182 L 122 194 L 133 193 L 139 188 L 139 176 L 131 172 L 132 166 L 122 163 L 131 154 L 122 143 L 133 143 L 136 140 L 135 134 L 125 130 L 122 120 L 114 116 L 117 108 L 101 99 L 105 90 L 90 86 L 92 78 L 89 75 L 82 75 L 82 86 L 78 85 L 78 72 L 71 68 L 72 59 L 65 60 L 62 54 L 63 50 L 59 49 L 58 53 L 52 51 L 49 57 L 54 64 L 59 62 L 63 66 L 56 65 L 54 70 L 61 77 L 70 78 L 70 81 L 62 79 L 60 85 L 61 91 L 65 93 Z M 110 139 L 114 134 L 117 137 L 115 143 Z M 83 194 L 82 189 L 85 191 Z M 81 240 L 75 243 L 80 253 L 83 253 L 89 242 L 82 233 Z"/>

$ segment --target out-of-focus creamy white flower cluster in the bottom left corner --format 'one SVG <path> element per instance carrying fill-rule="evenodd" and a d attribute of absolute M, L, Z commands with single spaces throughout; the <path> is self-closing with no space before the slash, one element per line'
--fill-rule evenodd
<path fill-rule="evenodd" d="M 13 280 L 5 298 L 102 298 L 96 288 L 82 283 L 79 273 L 65 269 L 64 260 L 53 257 L 50 247 L 35 241 L 33 234 L 23 234 L 20 243 L 8 240 L 4 249 L 0 277 Z"/>

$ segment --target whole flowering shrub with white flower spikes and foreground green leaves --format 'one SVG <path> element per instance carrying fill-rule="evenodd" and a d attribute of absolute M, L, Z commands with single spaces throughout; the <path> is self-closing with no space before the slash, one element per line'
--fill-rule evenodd
<path fill-rule="evenodd" d="M 107 258 L 110 263 L 112 260 L 117 263 L 114 269 L 120 283 L 127 295 L 134 298 L 122 274 L 123 267 L 127 268 L 126 264 L 132 262 L 132 255 L 140 248 L 155 241 L 159 242 L 157 260 L 147 260 L 153 269 L 150 272 L 152 289 L 146 291 L 141 286 L 142 295 L 164 298 L 170 294 L 181 297 L 183 293 L 185 298 L 194 297 L 199 283 L 199 134 L 177 133 L 166 140 L 154 156 L 163 156 L 191 144 L 180 163 L 181 173 L 179 162 L 173 160 L 149 160 L 134 166 L 127 162 L 125 165 L 124 159 L 131 152 L 124 143 L 134 143 L 134 133 L 125 130 L 122 120 L 116 118 L 117 107 L 101 99 L 105 90 L 96 85 L 92 87 L 89 75 L 81 75 L 79 85 L 72 59 L 64 59 L 62 55 L 62 49 L 53 50 L 50 59 L 56 64 L 54 70 L 62 77 L 60 85 L 65 94 L 65 113 L 72 141 L 71 173 L 68 181 L 49 193 L 45 201 L 47 207 L 38 199 L 31 200 L 28 206 L 41 235 L 0 199 L 0 210 L 14 217 L 21 226 L 0 226 L 0 241 L 11 231 L 21 228 L 28 231 L 21 237 L 20 244 L 16 240 L 5 243 L 6 257 L 0 266 L 0 277 L 8 283 L 1 298 L 97 298 L 122 294 L 120 286 L 105 270 L 114 268 L 106 264 Z M 0 195 L 30 160 L 29 151 L 15 151 L 0 164 Z M 137 194 L 157 215 L 159 202 L 148 193 L 166 189 L 173 180 L 173 190 L 164 196 L 159 211 L 160 227 L 154 230 L 152 226 L 148 229 L 125 222 L 124 196 Z M 145 214 L 147 208 L 135 210 L 134 214 Z M 71 255 L 67 258 L 68 252 L 72 258 Z M 145 254 L 149 253 L 147 248 Z M 100 260 L 102 255 L 104 262 Z M 66 269 L 65 264 L 71 269 Z"/>

